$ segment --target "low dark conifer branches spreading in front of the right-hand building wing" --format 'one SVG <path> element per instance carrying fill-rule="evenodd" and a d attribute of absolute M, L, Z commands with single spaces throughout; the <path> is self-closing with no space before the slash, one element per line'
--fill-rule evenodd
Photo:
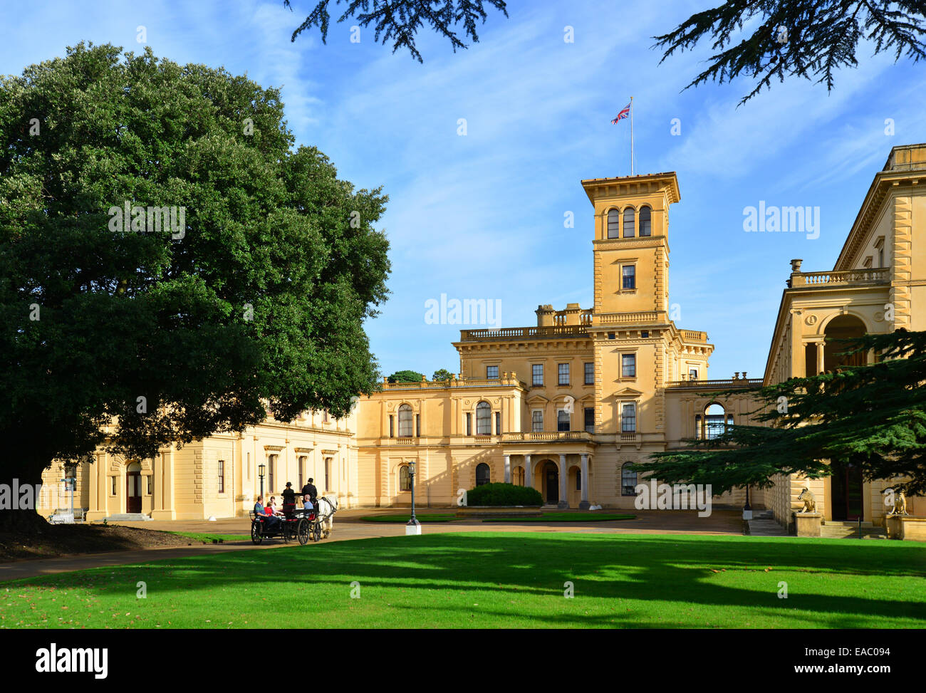
<path fill-rule="evenodd" d="M 775 474 L 816 479 L 851 462 L 865 479 L 926 492 L 926 333 L 870 334 L 838 348 L 873 352 L 877 362 L 756 388 L 757 424 L 657 453 L 637 470 L 669 484 L 710 484 L 720 494 L 769 485 Z"/>

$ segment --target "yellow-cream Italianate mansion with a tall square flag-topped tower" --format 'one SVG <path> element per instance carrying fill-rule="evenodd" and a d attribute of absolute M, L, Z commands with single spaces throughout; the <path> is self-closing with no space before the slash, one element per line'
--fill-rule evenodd
<path fill-rule="evenodd" d="M 757 408 L 745 393 L 703 393 L 847 365 L 827 338 L 926 330 L 918 308 L 926 300 L 926 145 L 891 150 L 832 270 L 791 259 L 761 378 L 712 378 L 707 333 L 676 324 L 669 313 L 669 217 L 681 198 L 675 173 L 591 178 L 582 187 L 591 205 L 585 228 L 593 305 L 540 305 L 533 325 L 462 330 L 453 345 L 454 378 L 384 382 L 343 420 L 324 412 L 269 419 L 165 447 L 149 460 L 100 449 L 76 469 L 75 507 L 90 520 L 242 516 L 261 484 L 279 496 L 286 482 L 298 488 L 309 477 L 342 508 L 407 506 L 414 462 L 419 506 L 446 507 L 459 489 L 505 482 L 532 486 L 560 508 L 630 509 L 640 481 L 633 463 L 720 435 Z M 782 269 L 788 259 L 781 258 Z M 60 489 L 64 474 L 58 462 L 45 483 Z M 845 465 L 815 481 L 779 477 L 770 488 L 752 489 L 750 500 L 790 527 L 807 486 L 825 520 L 877 525 L 890 510 L 882 497 L 889 485 Z M 744 491 L 714 498 L 720 506 L 744 501 Z M 67 507 L 69 492 L 45 502 L 45 514 Z M 907 498 L 907 510 L 926 514 L 926 498 Z"/>

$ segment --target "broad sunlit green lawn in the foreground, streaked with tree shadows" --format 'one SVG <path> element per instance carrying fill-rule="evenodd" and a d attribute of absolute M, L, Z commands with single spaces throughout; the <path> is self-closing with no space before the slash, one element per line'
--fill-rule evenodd
<path fill-rule="evenodd" d="M 913 542 L 394 536 L 0 583 L 0 627 L 923 628 L 924 577 Z"/>

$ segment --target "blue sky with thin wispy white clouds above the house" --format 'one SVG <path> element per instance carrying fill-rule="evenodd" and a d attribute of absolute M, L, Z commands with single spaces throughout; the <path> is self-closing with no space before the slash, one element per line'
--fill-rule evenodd
<path fill-rule="evenodd" d="M 592 306 L 592 208 L 579 182 L 630 173 L 629 122 L 609 121 L 631 95 L 637 172 L 679 177 L 669 300 L 680 327 L 707 331 L 716 346 L 714 378 L 761 375 L 789 260 L 832 269 L 891 146 L 926 141 L 926 68 L 866 47 L 830 94 L 775 83 L 737 108 L 751 82 L 682 91 L 707 53 L 658 65 L 651 37 L 705 2 L 515 0 L 509 19 L 490 14 L 469 50 L 453 54 L 422 34 L 423 65 L 366 29 L 351 43 L 350 21 L 332 25 L 327 45 L 318 31 L 291 43 L 314 0 L 293 0 L 293 12 L 282 0 L 4 5 L 5 74 L 81 40 L 139 50 L 144 25 L 157 56 L 282 85 L 297 142 L 319 146 L 342 178 L 390 195 L 381 226 L 392 295 L 368 323 L 384 373 L 457 370 L 450 342 L 469 326 L 425 321 L 425 302 L 441 294 L 500 300 L 509 327 L 535 324 L 541 303 Z M 566 26 L 574 43 L 563 40 Z M 745 233 L 744 209 L 760 200 L 819 207 L 819 237 Z"/>

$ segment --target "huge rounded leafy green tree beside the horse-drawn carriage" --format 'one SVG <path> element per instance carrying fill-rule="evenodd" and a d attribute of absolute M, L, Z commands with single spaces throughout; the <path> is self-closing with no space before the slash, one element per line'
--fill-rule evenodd
<path fill-rule="evenodd" d="M 0 483 L 268 409 L 343 415 L 378 377 L 386 201 L 294 148 L 278 90 L 224 69 L 79 44 L 2 78 Z"/>

